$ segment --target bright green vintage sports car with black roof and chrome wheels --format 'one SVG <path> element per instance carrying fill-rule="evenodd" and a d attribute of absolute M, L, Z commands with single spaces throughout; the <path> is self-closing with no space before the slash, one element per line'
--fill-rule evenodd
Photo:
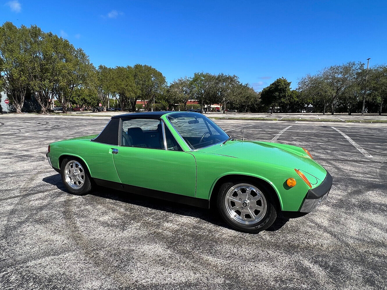
<path fill-rule="evenodd" d="M 311 212 L 332 186 L 306 149 L 235 140 L 194 112 L 114 116 L 99 135 L 51 143 L 46 156 L 72 194 L 97 185 L 216 207 L 247 233 L 270 227 L 279 211 Z"/>

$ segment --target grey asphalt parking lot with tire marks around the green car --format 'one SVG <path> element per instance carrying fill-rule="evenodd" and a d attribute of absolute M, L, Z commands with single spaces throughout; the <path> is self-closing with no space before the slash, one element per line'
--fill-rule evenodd
<path fill-rule="evenodd" d="M 216 120 L 237 138 L 305 147 L 334 178 L 317 210 L 251 235 L 209 210 L 66 193 L 48 144 L 108 119 L 0 116 L 1 289 L 385 289 L 387 125 Z"/>

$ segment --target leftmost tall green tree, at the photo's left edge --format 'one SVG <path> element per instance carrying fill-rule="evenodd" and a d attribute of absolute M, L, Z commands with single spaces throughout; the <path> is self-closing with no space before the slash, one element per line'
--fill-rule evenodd
<path fill-rule="evenodd" d="M 0 71 L 7 97 L 16 113 L 21 113 L 28 91 L 27 65 L 30 63 L 27 27 L 17 28 L 11 22 L 0 27 Z"/>

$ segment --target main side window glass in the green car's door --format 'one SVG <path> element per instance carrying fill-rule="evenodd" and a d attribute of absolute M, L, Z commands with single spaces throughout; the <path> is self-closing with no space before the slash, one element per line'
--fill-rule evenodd
<path fill-rule="evenodd" d="M 121 145 L 164 149 L 161 121 L 154 119 L 123 119 Z"/>

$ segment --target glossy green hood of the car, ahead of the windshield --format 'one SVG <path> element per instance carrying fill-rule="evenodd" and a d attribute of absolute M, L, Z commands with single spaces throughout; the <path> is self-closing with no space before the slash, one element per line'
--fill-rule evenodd
<path fill-rule="evenodd" d="M 230 140 L 226 144 L 218 144 L 198 151 L 298 169 L 312 184 L 317 184 L 317 179 L 323 181 L 327 175 L 324 167 L 311 159 L 301 147 L 292 145 Z"/>

